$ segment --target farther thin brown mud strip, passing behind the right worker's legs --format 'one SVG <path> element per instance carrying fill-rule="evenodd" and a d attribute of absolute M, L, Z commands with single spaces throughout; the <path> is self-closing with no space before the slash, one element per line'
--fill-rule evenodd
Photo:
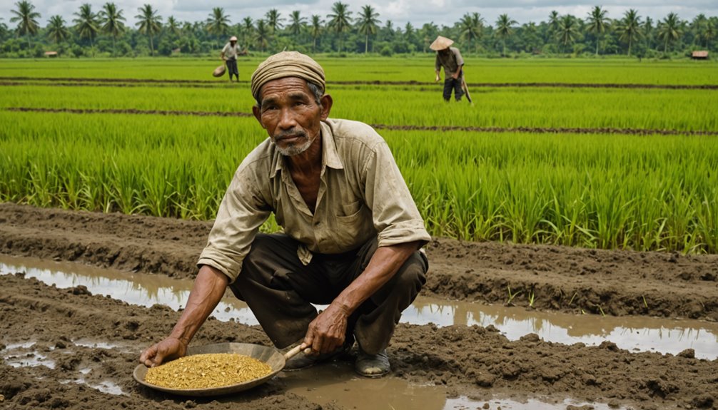
<path fill-rule="evenodd" d="M 217 84 L 218 80 L 153 80 L 139 78 L 78 78 L 78 77 L 0 77 L 2 85 L 17 85 L 27 81 L 50 81 L 62 85 L 96 83 L 96 84 Z M 226 81 L 224 81 L 226 82 Z M 248 81 L 242 81 L 249 83 Z M 91 84 L 90 84 L 91 85 Z M 426 81 L 330 81 L 327 85 L 434 85 L 434 82 Z M 468 82 L 470 87 L 562 87 L 562 88 L 648 88 L 658 90 L 718 90 L 714 84 L 610 84 L 610 83 L 586 83 L 586 82 Z"/>

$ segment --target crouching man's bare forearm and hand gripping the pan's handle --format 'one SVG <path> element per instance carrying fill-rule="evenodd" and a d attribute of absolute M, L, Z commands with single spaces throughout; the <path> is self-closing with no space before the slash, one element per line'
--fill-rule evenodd
<path fill-rule="evenodd" d="M 379 247 L 364 272 L 343 290 L 320 315 L 309 323 L 302 349 L 330 353 L 344 343 L 349 316 L 398 272 L 421 246 L 420 241 Z"/>

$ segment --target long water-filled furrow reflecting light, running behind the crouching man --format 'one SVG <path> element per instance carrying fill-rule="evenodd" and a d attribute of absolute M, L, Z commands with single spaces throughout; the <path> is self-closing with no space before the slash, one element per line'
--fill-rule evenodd
<path fill-rule="evenodd" d="M 0 254 L 0 275 L 14 272 L 25 272 L 27 277 L 36 277 L 48 285 L 84 285 L 93 295 L 109 295 L 113 299 L 147 307 L 163 304 L 174 310 L 184 307 L 192 288 L 191 280 L 177 280 L 164 275 L 120 272 Z M 218 320 L 257 324 L 246 304 L 233 296 L 225 297 L 213 315 Z M 510 340 L 536 333 L 541 339 L 554 343 L 598 345 L 610 340 L 629 351 L 677 354 L 692 348 L 698 358 L 718 358 L 718 323 L 698 320 L 544 313 L 524 308 L 417 297 L 404 311 L 401 322 L 434 323 L 439 326 L 494 325 Z M 103 347 L 101 342 L 86 343 L 90 343 L 88 347 Z M 107 345 L 106 348 L 114 347 Z"/>

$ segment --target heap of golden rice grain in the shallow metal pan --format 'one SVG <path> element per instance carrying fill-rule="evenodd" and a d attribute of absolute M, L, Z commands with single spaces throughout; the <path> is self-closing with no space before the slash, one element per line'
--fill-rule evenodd
<path fill-rule="evenodd" d="M 256 358 L 237 353 L 208 353 L 185 356 L 147 369 L 144 381 L 155 386 L 213 388 L 254 380 L 271 373 L 271 367 Z"/>

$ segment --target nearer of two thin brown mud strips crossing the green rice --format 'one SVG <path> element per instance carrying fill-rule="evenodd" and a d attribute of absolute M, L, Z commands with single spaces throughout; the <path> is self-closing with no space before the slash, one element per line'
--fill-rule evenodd
<path fill-rule="evenodd" d="M 249 118 L 251 113 L 236 113 L 225 111 L 177 111 L 177 110 L 136 110 L 136 109 L 80 109 L 80 108 L 32 108 L 14 107 L 6 108 L 8 111 L 20 113 L 71 113 L 71 114 L 138 114 L 138 115 L 194 115 L 197 117 L 244 117 Z M 403 131 L 467 131 L 476 133 L 534 133 L 534 134 L 625 134 L 625 135 L 718 135 L 718 131 L 689 131 L 689 130 L 652 130 L 645 128 L 563 128 L 563 127 L 466 127 L 442 125 L 386 125 L 370 124 L 377 130 L 403 130 Z"/>

